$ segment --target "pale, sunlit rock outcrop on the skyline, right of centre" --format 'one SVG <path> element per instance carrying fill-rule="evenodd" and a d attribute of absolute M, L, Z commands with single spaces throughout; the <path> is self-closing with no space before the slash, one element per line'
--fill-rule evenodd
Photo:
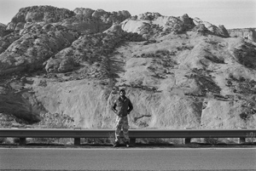
<path fill-rule="evenodd" d="M 198 18 L 193 20 L 189 18 L 188 14 L 183 14 L 181 17 L 162 16 L 158 13 L 140 14 L 123 21 L 122 29 L 124 31 L 137 32 L 146 38 L 155 38 L 171 32 L 183 33 L 200 25 L 205 26 L 205 31 L 211 32 L 213 35 L 230 37 L 224 26 L 214 26 Z"/>

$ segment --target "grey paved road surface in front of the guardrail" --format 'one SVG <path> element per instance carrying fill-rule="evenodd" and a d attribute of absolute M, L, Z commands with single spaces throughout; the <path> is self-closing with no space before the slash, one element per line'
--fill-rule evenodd
<path fill-rule="evenodd" d="M 1 169 L 256 170 L 256 148 L 2 148 Z"/>

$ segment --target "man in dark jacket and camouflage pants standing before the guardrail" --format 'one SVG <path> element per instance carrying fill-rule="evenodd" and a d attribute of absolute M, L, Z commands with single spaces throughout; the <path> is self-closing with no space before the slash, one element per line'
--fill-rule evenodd
<path fill-rule="evenodd" d="M 125 145 L 129 147 L 130 140 L 129 140 L 129 124 L 128 124 L 128 117 L 127 115 L 130 114 L 132 111 L 133 106 L 131 104 L 131 100 L 129 100 L 125 96 L 125 89 L 121 89 L 119 91 L 119 98 L 113 102 L 112 110 L 116 113 L 116 129 L 115 129 L 115 142 L 113 147 L 116 147 L 119 145 L 120 140 L 120 132 L 123 128 L 123 134 L 125 138 Z"/>

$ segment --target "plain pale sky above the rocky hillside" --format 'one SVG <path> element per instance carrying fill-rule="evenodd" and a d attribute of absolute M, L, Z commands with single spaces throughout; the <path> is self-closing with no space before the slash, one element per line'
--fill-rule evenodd
<path fill-rule="evenodd" d="M 213 25 L 230 28 L 256 27 L 256 0 L 0 0 L 0 22 L 8 24 L 20 8 L 51 5 L 103 9 L 108 12 L 128 10 L 131 15 L 158 12 L 167 16 L 198 17 Z"/>

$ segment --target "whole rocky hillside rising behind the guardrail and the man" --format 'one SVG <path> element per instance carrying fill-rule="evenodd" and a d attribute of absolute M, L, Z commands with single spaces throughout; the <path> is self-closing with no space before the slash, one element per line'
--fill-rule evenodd
<path fill-rule="evenodd" d="M 256 43 L 188 14 L 34 6 L 0 26 L 0 127 L 255 128 Z"/>

